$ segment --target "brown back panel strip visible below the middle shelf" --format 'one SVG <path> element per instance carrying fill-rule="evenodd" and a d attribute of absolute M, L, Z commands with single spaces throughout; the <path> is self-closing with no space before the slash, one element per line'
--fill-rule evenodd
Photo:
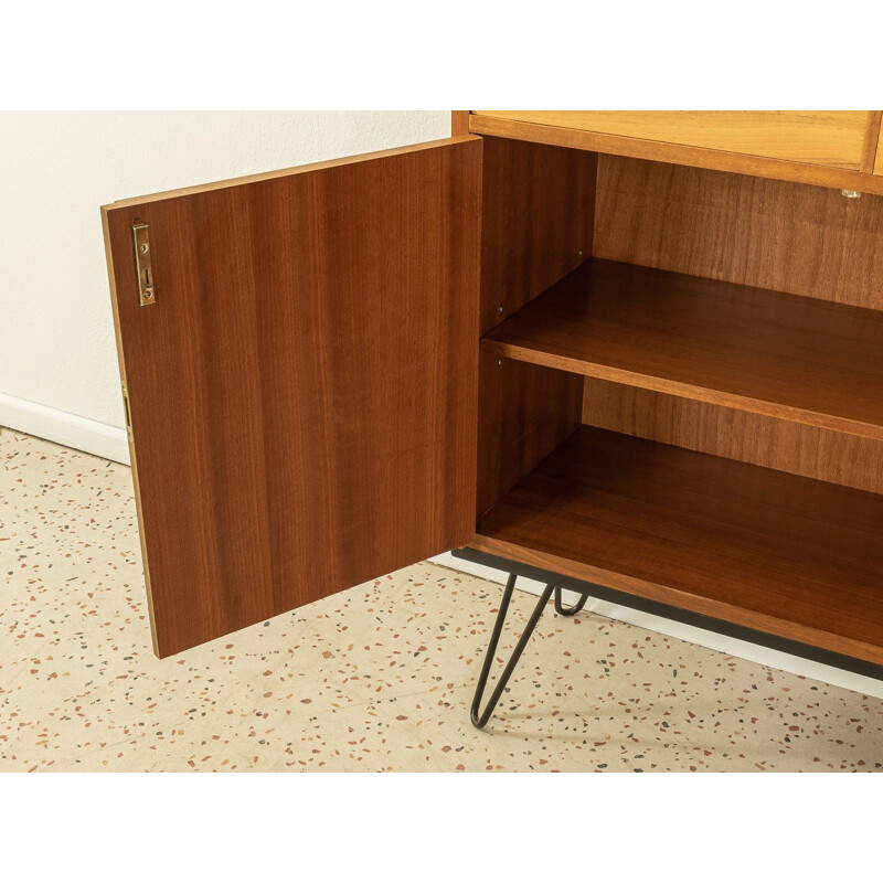
<path fill-rule="evenodd" d="M 586 377 L 583 423 L 883 493 L 883 442 Z"/>

